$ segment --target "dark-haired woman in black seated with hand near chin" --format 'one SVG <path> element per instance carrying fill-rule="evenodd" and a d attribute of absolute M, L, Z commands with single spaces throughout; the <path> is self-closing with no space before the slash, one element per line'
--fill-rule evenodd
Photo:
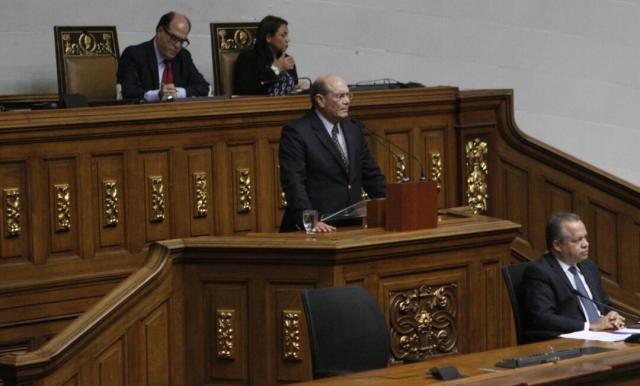
<path fill-rule="evenodd" d="M 287 21 L 271 15 L 262 19 L 253 49 L 240 53 L 236 61 L 234 94 L 286 95 L 294 90 L 298 74 L 288 47 Z"/>

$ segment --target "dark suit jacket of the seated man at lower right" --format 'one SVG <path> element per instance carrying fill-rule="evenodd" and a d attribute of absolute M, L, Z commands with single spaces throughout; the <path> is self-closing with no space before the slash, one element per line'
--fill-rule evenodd
<path fill-rule="evenodd" d="M 602 289 L 600 272 L 591 260 L 578 263 L 578 268 L 589 286 L 591 295 L 599 303 L 607 304 L 609 298 Z M 567 333 L 582 330 L 587 320 L 580 307 L 580 298 L 562 271 L 562 267 L 551 254 L 542 256 L 529 264 L 524 271 L 524 309 L 526 331 L 553 331 Z M 598 306 L 605 315 L 609 310 Z"/>

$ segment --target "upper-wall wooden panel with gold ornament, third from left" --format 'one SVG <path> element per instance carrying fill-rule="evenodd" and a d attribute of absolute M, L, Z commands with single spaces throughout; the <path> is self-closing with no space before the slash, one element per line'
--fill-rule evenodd
<path fill-rule="evenodd" d="M 125 161 L 123 154 L 96 155 L 92 159 L 93 218 L 96 252 L 126 248 Z"/>

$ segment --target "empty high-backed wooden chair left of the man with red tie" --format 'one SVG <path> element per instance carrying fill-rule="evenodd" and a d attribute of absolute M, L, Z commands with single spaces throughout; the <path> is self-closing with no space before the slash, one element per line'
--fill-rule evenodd
<path fill-rule="evenodd" d="M 58 93 L 89 100 L 116 99 L 118 35 L 116 27 L 53 27 Z"/>

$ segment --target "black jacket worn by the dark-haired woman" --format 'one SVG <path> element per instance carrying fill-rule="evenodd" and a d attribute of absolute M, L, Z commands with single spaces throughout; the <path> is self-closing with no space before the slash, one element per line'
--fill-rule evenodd
<path fill-rule="evenodd" d="M 269 87 L 277 80 L 271 70 L 271 64 L 265 65 L 264 60 L 255 50 L 242 51 L 236 60 L 233 72 L 233 93 L 237 95 L 266 95 Z M 295 83 L 298 83 L 296 67 L 287 71 Z"/>

